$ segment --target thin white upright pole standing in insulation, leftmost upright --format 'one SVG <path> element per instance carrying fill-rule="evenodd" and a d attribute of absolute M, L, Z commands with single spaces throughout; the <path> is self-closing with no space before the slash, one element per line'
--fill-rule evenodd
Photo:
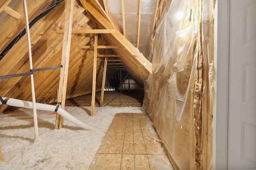
<path fill-rule="evenodd" d="M 33 69 L 32 64 L 32 51 L 31 51 L 31 42 L 30 42 L 30 30 L 28 24 L 28 9 L 26 0 L 22 0 L 23 4 L 23 12 L 24 12 L 24 20 L 25 20 L 25 28 L 28 40 L 28 57 L 29 57 L 29 65 L 30 70 Z M 31 90 L 32 90 L 32 102 L 33 102 L 33 115 L 34 115 L 34 127 L 35 127 L 35 138 L 38 137 L 38 123 L 37 123 L 37 114 L 36 114 L 36 95 L 35 95 L 35 86 L 34 86 L 34 75 L 30 75 L 31 79 Z"/>

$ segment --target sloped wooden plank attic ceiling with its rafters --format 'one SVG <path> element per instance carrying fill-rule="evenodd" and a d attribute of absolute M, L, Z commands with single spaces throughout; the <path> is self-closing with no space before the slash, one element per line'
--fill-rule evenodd
<path fill-rule="evenodd" d="M 58 30 L 64 29 L 64 0 L 27 0 L 26 2 L 33 68 L 60 66 L 63 33 Z M 99 56 L 111 56 L 108 57 L 105 84 L 110 82 L 116 71 L 126 70 L 143 88 L 144 80 L 151 72 L 151 63 L 146 57 L 154 31 L 153 25 L 156 24 L 153 21 L 160 16 L 156 15 L 156 12 L 159 12 L 154 8 L 155 4 L 160 4 L 160 1 L 141 0 L 140 4 L 139 0 L 122 0 L 123 6 L 118 2 L 121 0 L 74 1 L 72 30 L 115 30 L 115 33 L 98 35 L 98 46 L 102 48 L 99 48 L 97 53 L 96 91 L 101 90 L 105 58 Z M 46 11 L 50 12 L 46 14 Z M 122 21 L 121 16 L 124 17 Z M 140 22 L 138 22 L 139 18 Z M 25 27 L 24 23 L 21 0 L 0 0 L 0 76 L 30 72 L 27 37 L 20 36 Z M 123 25 L 126 25 L 125 30 Z M 18 40 L 15 39 L 17 36 Z M 92 92 L 94 51 L 83 48 L 92 45 L 94 45 L 94 34 L 72 33 L 66 98 Z M 113 48 L 106 49 L 106 45 Z M 36 102 L 53 103 L 57 100 L 60 69 L 33 72 Z M 30 76 L 1 78 L 0 96 L 31 101 Z M 5 109 L 6 106 L 0 106 L 0 112 Z"/>

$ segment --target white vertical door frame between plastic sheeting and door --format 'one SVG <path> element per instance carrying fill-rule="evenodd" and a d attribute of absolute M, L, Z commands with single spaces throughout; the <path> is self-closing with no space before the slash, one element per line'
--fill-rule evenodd
<path fill-rule="evenodd" d="M 215 0 L 214 15 L 214 113 L 212 169 L 227 169 L 228 153 L 228 59 L 229 59 L 229 2 Z M 217 7 L 217 8 L 216 8 Z"/>

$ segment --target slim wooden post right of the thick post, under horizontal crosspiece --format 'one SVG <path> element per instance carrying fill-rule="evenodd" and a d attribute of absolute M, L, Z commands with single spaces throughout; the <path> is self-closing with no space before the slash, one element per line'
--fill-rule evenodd
<path fill-rule="evenodd" d="M 91 116 L 94 116 L 95 108 L 95 92 L 96 92 L 96 74 L 97 74 L 97 49 L 98 45 L 98 34 L 94 35 L 94 58 L 93 58 L 93 74 L 92 74 L 92 106 L 91 106 Z"/>

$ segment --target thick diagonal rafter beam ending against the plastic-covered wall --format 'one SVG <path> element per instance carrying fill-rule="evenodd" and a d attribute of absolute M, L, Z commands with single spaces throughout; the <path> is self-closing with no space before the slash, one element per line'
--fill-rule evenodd
<path fill-rule="evenodd" d="M 101 29 L 116 29 L 114 25 L 102 17 L 90 2 L 85 2 L 84 0 L 80 0 L 80 2 L 92 14 Z M 128 70 L 136 70 L 136 73 L 130 72 L 130 75 L 136 77 L 135 79 L 140 80 L 140 84 L 143 84 L 143 79 L 147 78 L 149 73 L 152 72 L 152 64 L 117 29 L 116 33 L 104 34 L 102 36 L 109 45 L 117 45 L 120 48 L 119 50 L 113 49 L 113 51 L 120 55 L 120 59 Z M 144 63 L 146 63 L 146 66 L 143 66 Z"/>

